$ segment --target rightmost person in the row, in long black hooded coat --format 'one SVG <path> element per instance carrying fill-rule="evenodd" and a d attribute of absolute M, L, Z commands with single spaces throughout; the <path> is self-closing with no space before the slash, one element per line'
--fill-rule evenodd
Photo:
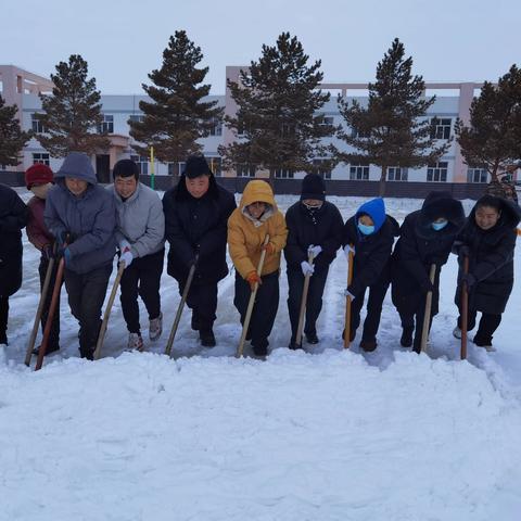
<path fill-rule="evenodd" d="M 469 291 L 467 329 L 474 329 L 480 312 L 473 342 L 486 351 L 495 351 L 493 335 L 512 291 L 516 227 L 520 218 L 521 209 L 511 201 L 483 195 L 471 209 L 455 243 L 454 250 L 460 260 L 455 303 L 460 315 L 453 333 L 461 338 L 461 287 L 465 282 Z M 468 274 L 462 267 L 466 256 L 469 258 Z"/>

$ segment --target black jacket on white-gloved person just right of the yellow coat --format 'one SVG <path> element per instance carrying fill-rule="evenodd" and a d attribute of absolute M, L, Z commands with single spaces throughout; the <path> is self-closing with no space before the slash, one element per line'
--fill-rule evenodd
<path fill-rule="evenodd" d="M 284 257 L 288 268 L 301 269 L 301 263 L 307 260 L 307 249 L 312 244 L 322 247 L 314 259 L 315 269 L 321 271 L 328 268 L 340 247 L 343 224 L 339 208 L 328 201 L 314 211 L 308 211 L 301 201 L 290 206 L 285 213 L 288 241 Z"/>

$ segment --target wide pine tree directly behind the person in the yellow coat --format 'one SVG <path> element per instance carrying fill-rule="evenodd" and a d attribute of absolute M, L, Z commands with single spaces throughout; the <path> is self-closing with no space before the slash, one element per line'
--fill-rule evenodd
<path fill-rule="evenodd" d="M 228 80 L 238 111 L 225 122 L 240 139 L 219 148 L 225 168 L 249 165 L 269 170 L 271 180 L 276 169 L 315 171 L 317 160 L 325 168 L 333 166 L 331 149 L 321 139 L 335 128 L 317 112 L 330 94 L 317 90 L 321 62 L 307 66 L 307 61 L 297 38 L 282 33 L 275 47 L 263 46 L 262 56 L 241 71 L 239 82 Z"/>

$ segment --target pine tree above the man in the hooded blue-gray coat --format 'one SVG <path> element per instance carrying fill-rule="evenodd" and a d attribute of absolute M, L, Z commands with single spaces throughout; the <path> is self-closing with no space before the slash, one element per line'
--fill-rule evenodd
<path fill-rule="evenodd" d="M 96 90 L 96 78 L 87 79 L 87 62 L 72 54 L 68 63 L 60 62 L 56 74 L 51 74 L 52 96 L 39 94 L 45 112 L 38 119 L 45 134 L 36 139 L 54 157 L 72 151 L 90 155 L 110 147 L 105 135 L 96 132 L 103 122 L 100 92 Z"/>

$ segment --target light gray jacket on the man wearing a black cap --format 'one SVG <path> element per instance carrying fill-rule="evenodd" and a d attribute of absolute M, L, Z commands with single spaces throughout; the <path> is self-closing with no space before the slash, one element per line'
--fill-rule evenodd
<path fill-rule="evenodd" d="M 114 185 L 109 187 L 116 202 L 116 241 L 130 243 L 135 257 L 144 257 L 165 247 L 163 203 L 151 188 L 138 182 L 130 198 L 123 201 Z"/>

